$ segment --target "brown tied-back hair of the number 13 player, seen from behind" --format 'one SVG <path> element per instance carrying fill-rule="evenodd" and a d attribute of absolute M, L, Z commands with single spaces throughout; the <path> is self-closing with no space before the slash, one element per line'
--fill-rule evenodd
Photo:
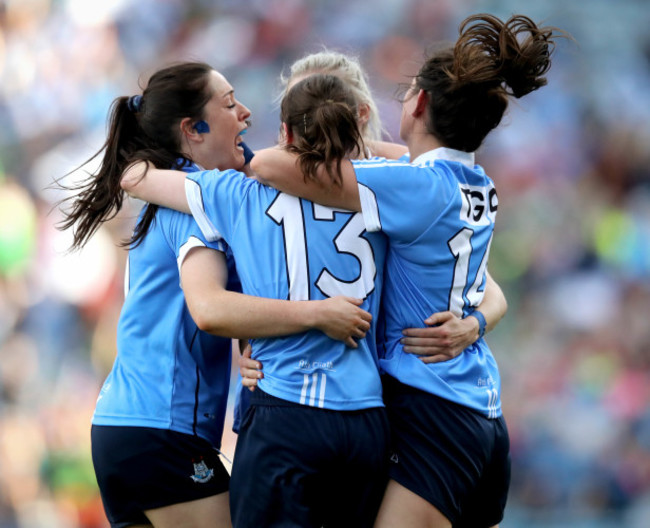
<path fill-rule="evenodd" d="M 363 155 L 354 94 L 338 77 L 314 74 L 296 83 L 282 99 L 280 117 L 293 135 L 287 150 L 298 155 L 305 178 L 317 180 L 324 165 L 341 184 L 341 161 Z"/>

